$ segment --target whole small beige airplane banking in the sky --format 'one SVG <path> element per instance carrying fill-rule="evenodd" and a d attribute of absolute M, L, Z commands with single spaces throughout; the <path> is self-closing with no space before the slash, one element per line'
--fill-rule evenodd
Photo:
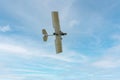
<path fill-rule="evenodd" d="M 47 31 L 45 29 L 42 29 L 42 33 L 44 35 L 43 40 L 47 41 L 48 36 L 55 36 L 56 53 L 61 53 L 62 52 L 62 36 L 67 35 L 67 33 L 63 33 L 60 29 L 59 17 L 58 17 L 57 11 L 52 12 L 52 23 L 53 23 L 55 32 L 52 35 L 48 35 Z"/>

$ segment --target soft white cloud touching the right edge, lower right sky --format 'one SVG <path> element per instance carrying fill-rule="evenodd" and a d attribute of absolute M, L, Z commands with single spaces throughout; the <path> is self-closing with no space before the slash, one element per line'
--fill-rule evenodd
<path fill-rule="evenodd" d="M 120 45 L 113 46 L 104 51 L 104 55 L 92 63 L 93 66 L 99 68 L 117 68 L 120 67 Z"/>

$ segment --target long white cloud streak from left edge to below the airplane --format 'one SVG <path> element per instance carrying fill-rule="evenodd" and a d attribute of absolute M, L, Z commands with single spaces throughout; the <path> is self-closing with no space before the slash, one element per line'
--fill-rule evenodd
<path fill-rule="evenodd" d="M 12 41 L 13 42 L 13 41 Z M 56 54 L 54 52 L 46 51 L 45 49 L 39 48 L 38 47 L 27 47 L 24 44 L 17 45 L 17 44 L 10 44 L 10 43 L 0 43 L 0 51 L 2 52 L 7 52 L 10 54 L 16 54 L 19 55 L 20 57 L 24 58 L 33 58 L 33 57 L 41 57 L 41 58 L 47 58 L 50 60 L 59 60 L 63 62 L 72 62 L 72 63 L 82 63 L 86 62 L 88 59 L 85 55 L 78 54 L 77 52 L 74 51 L 65 51 L 65 53 L 69 53 L 64 55 L 65 53 L 61 54 Z M 73 55 L 74 54 L 74 55 Z M 80 60 L 77 60 L 79 58 Z"/>

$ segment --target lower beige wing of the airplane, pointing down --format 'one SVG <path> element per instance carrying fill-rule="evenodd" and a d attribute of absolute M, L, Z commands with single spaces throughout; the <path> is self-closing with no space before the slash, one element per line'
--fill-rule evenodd
<path fill-rule="evenodd" d="M 61 40 L 61 36 L 56 36 L 55 47 L 56 47 L 56 53 L 61 53 L 62 52 L 62 40 Z"/>

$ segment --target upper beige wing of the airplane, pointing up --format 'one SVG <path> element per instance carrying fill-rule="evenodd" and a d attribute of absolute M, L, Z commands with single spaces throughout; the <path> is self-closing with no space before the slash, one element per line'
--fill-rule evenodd
<path fill-rule="evenodd" d="M 60 24 L 59 24 L 59 17 L 58 17 L 57 11 L 52 12 L 52 23 L 53 23 L 53 27 L 55 29 L 55 33 L 59 33 L 60 32 Z"/>

